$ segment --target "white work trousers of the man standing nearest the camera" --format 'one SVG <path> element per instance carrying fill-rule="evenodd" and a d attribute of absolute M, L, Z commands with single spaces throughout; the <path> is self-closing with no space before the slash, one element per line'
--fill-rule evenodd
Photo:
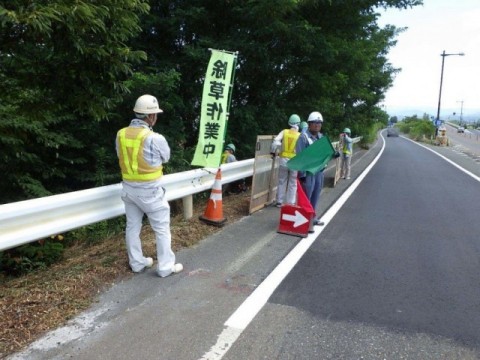
<path fill-rule="evenodd" d="M 157 246 L 157 274 L 161 277 L 172 273 L 175 264 L 175 254 L 171 249 L 170 234 L 170 205 L 165 199 L 162 188 L 156 190 L 130 189 L 122 192 L 125 203 L 127 227 L 125 241 L 128 252 L 128 262 L 134 272 L 142 271 L 146 265 L 143 256 L 140 231 L 142 230 L 143 215 L 146 214 L 150 226 L 155 233 Z"/>

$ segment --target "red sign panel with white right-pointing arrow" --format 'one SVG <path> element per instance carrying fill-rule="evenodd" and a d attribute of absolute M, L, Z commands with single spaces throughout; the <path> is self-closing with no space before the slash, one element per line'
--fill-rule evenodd
<path fill-rule="evenodd" d="M 301 237 L 308 236 L 315 212 L 297 205 L 283 205 L 277 232 Z"/>

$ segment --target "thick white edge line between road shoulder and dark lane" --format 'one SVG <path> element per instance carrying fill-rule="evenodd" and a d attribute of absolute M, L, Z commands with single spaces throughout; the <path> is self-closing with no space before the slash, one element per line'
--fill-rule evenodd
<path fill-rule="evenodd" d="M 218 336 L 217 343 L 211 347 L 210 351 L 205 353 L 199 360 L 220 360 L 233 346 L 238 337 L 247 328 L 250 322 L 255 318 L 263 306 L 267 303 L 278 285 L 285 279 L 288 273 L 302 258 L 305 252 L 315 242 L 317 237 L 323 232 L 330 220 L 342 208 L 343 204 L 352 195 L 353 191 L 360 185 L 365 176 L 370 172 L 377 163 L 385 149 L 385 139 L 383 138 L 383 146 L 377 157 L 370 165 L 355 179 L 355 181 L 347 188 L 340 198 L 328 209 L 322 216 L 324 226 L 315 227 L 315 231 L 302 239 L 295 248 L 278 264 L 278 266 L 267 276 L 267 278 L 255 289 L 250 296 L 240 305 L 240 307 L 225 322 L 225 328 Z"/>

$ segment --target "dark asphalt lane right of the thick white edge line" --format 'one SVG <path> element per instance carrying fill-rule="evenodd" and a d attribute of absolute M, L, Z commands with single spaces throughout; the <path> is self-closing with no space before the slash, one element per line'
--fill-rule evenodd
<path fill-rule="evenodd" d="M 480 358 L 479 179 L 386 142 L 226 359 Z"/>

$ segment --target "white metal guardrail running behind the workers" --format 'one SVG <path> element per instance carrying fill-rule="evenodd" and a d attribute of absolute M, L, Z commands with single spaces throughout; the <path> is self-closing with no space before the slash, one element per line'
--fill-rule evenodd
<path fill-rule="evenodd" d="M 336 147 L 337 142 L 332 145 Z M 254 161 L 222 164 L 222 184 L 252 176 Z M 256 171 L 270 171 L 270 167 Z M 167 200 L 182 199 L 184 216 L 190 218 L 192 195 L 211 189 L 216 173 L 216 168 L 204 168 L 164 175 Z M 115 184 L 0 205 L 0 251 L 124 215 L 121 189 L 121 184 Z"/>

